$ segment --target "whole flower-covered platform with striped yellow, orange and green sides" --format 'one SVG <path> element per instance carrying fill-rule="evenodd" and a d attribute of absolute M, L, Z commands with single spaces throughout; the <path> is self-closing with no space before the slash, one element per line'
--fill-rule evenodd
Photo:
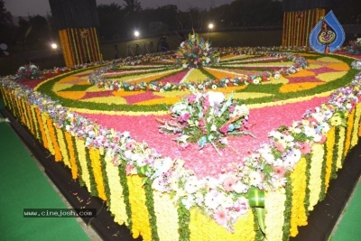
<path fill-rule="evenodd" d="M 193 44 L 198 42 L 198 44 Z M 194 54 L 197 53 L 197 54 Z M 177 52 L 0 80 L 5 106 L 143 240 L 289 240 L 361 134 L 356 58 Z"/>

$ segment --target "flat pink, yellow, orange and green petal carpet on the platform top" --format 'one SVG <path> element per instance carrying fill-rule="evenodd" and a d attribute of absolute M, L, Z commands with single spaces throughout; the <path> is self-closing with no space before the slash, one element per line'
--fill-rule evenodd
<path fill-rule="evenodd" d="M 242 75 L 252 76 L 264 70 L 282 70 L 292 65 L 292 60 L 259 55 L 227 55 L 222 58 L 219 68 L 171 70 L 169 66 L 172 60 L 157 60 L 150 65 L 122 66 L 102 73 L 103 78 L 122 79 L 130 87 L 140 82 L 156 82 L 156 86 L 151 86 L 152 91 L 125 91 L 106 88 L 105 83 L 90 83 L 90 76 L 102 69 L 101 66 L 25 84 L 51 95 L 52 99 L 59 99 L 63 106 L 97 120 L 100 125 L 130 132 L 136 141 L 147 143 L 164 156 L 184 160 L 186 169 L 193 170 L 199 177 L 217 177 L 219 173 L 232 170 L 236 162 L 242 162 L 245 155 L 266 143 L 272 130 L 281 125 L 291 126 L 307 110 L 326 102 L 332 90 L 345 85 L 340 79 L 347 75 L 350 67 L 344 57 L 313 52 L 302 52 L 300 55 L 309 62 L 306 70 L 280 75 L 278 79 L 270 77 L 259 82 L 252 79 L 243 85 L 234 85 L 232 79 Z M 196 83 L 197 86 L 204 84 L 204 79 L 226 79 L 227 85 L 221 88 L 211 86 L 212 90 L 227 95 L 232 93 L 235 99 L 245 101 L 250 108 L 249 131 L 256 138 L 229 137 L 227 148 L 217 152 L 211 145 L 201 150 L 197 144 L 183 148 L 172 141 L 174 135 L 159 133 L 157 119 L 167 119 L 169 106 L 190 94 L 190 90 L 185 88 L 165 91 L 167 84 L 181 86 Z"/>

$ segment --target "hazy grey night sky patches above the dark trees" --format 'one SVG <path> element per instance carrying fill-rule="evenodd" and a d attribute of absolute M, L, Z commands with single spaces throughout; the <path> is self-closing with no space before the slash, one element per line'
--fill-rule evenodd
<path fill-rule="evenodd" d="M 139 0 L 142 8 L 157 8 L 162 5 L 177 5 L 182 11 L 190 7 L 209 8 L 211 5 L 214 7 L 218 5 L 226 5 L 232 3 L 234 0 Z M 14 16 L 27 16 L 27 15 L 46 15 L 51 12 L 49 0 L 4 0 L 5 8 Z M 97 0 L 97 5 L 116 5 L 123 6 L 124 0 Z"/>

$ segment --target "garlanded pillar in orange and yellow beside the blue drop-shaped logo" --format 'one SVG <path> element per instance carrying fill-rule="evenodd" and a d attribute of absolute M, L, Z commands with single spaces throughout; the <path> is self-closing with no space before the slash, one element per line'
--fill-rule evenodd
<path fill-rule="evenodd" d="M 282 46 L 309 46 L 310 32 L 325 16 L 330 0 L 283 0 Z"/>

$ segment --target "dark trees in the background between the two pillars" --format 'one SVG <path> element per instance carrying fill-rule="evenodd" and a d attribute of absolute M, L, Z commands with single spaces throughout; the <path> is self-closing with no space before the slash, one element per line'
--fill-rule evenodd
<path fill-rule="evenodd" d="M 186 12 L 180 11 L 177 5 L 142 9 L 136 0 L 125 0 L 125 3 L 97 6 L 103 39 L 130 36 L 135 29 L 146 33 L 207 31 L 208 23 L 218 29 L 282 25 L 282 2 L 272 0 L 236 0 L 230 5 L 190 8 Z"/>

